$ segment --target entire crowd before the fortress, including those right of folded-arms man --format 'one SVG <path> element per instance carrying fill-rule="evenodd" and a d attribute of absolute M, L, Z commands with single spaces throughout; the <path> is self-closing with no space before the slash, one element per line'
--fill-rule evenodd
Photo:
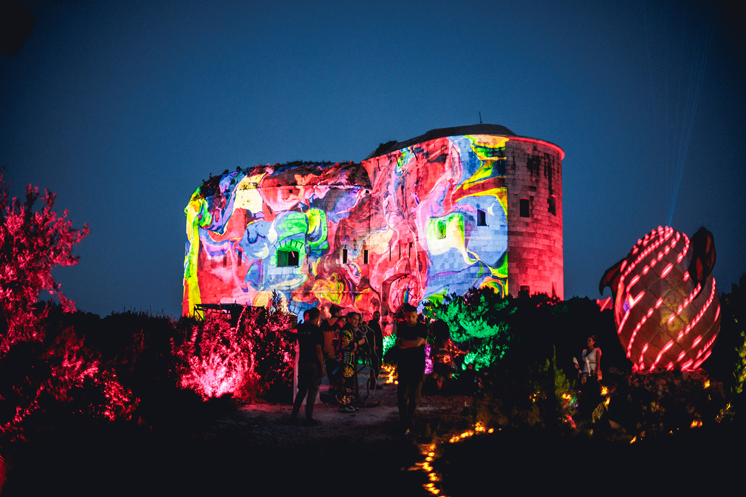
<path fill-rule="evenodd" d="M 354 413 L 364 405 L 358 391 L 357 365 L 369 365 L 369 388 L 382 389 L 377 384 L 383 356 L 383 332 L 380 312 L 375 311 L 367 323 L 358 312 L 342 314 L 342 308 L 331 306 L 330 317 L 322 320 L 318 308 L 304 312 L 304 321 L 298 325 L 298 393 L 293 402 L 291 423 L 298 423 L 298 414 L 304 398 L 307 426 L 316 426 L 313 407 L 322 378 L 327 376 L 333 387 L 335 401 L 342 414 Z M 435 338 L 430 347 L 433 370 L 425 376 L 425 344 L 428 335 Z M 423 387 L 426 393 L 463 393 L 471 395 L 482 387 L 483 376 L 468 364 L 457 379 L 456 358 L 463 355 L 448 335 L 448 325 L 435 321 L 430 328 L 423 322 L 417 308 L 402 306 L 395 314 L 392 335 L 395 345 L 389 354 L 394 356 L 397 370 L 397 398 L 401 429 L 410 432 L 412 418 Z M 486 373 L 484 373 L 486 374 Z"/>

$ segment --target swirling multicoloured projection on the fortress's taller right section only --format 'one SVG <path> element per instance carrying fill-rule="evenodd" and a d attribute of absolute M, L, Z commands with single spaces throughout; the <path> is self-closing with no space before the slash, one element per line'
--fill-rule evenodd
<path fill-rule="evenodd" d="M 507 141 L 448 136 L 363 162 L 375 178 L 372 245 L 382 270 L 370 281 L 383 310 L 471 287 L 507 294 Z"/>

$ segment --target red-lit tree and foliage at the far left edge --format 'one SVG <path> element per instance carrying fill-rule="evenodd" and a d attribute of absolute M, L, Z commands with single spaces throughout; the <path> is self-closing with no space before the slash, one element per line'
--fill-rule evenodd
<path fill-rule="evenodd" d="M 43 208 L 34 211 L 40 198 Z M 131 414 L 137 403 L 116 374 L 101 367 L 98 352 L 87 348 L 72 326 L 49 319 L 54 304 L 37 303 L 40 291 L 46 290 L 57 295 L 62 311 L 75 311 L 51 270 L 77 264 L 72 247 L 89 232 L 87 225 L 73 228 L 67 212 L 58 216 L 53 207 L 54 194 L 46 191 L 42 197 L 31 185 L 24 203 L 10 199 L 0 174 L 0 434 L 10 437 L 23 437 L 25 418 L 45 411 L 52 399 L 72 402 L 76 399 L 71 392 L 84 387 L 103 393 L 104 402 L 87 411 L 108 420 Z"/>

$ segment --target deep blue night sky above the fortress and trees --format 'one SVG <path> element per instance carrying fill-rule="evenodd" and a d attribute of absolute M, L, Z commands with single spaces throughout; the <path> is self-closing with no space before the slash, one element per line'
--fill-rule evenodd
<path fill-rule="evenodd" d="M 380 142 L 475 124 L 480 112 L 565 151 L 565 298 L 598 297 L 604 270 L 667 223 L 687 142 L 672 225 L 715 235 L 720 291 L 746 272 L 746 43 L 730 4 L 29 10 L 25 44 L 0 54 L 0 165 L 14 194 L 28 183 L 56 191 L 60 212 L 89 224 L 80 264 L 54 272 L 81 310 L 180 314 L 184 207 L 210 174 L 357 162 Z M 699 95 L 695 113 L 687 95 Z"/>

